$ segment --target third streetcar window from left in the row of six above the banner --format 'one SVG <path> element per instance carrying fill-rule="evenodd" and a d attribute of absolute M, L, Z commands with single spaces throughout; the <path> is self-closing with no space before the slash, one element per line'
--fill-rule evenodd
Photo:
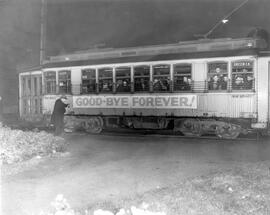
<path fill-rule="evenodd" d="M 116 92 L 130 92 L 130 68 L 119 67 L 115 69 Z"/>

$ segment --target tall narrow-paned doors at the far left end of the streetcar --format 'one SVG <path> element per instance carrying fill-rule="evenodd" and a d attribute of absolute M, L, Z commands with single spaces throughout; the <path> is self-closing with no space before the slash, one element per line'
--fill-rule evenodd
<path fill-rule="evenodd" d="M 42 117 L 41 74 L 21 76 L 21 116 L 36 121 Z"/>

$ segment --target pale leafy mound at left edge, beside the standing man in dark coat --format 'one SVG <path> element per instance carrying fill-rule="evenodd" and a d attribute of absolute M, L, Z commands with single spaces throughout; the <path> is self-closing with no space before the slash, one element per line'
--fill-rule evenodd
<path fill-rule="evenodd" d="M 66 150 L 64 138 L 45 131 L 22 131 L 2 126 L 0 122 L 0 161 L 21 163 L 33 157 L 49 156 Z"/>

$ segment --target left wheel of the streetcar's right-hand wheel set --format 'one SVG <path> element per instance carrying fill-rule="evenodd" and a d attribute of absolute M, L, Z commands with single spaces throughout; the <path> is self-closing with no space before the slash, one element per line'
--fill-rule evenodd
<path fill-rule="evenodd" d="M 184 136 L 200 137 L 202 135 L 201 123 L 198 119 L 186 119 L 179 129 Z"/>

